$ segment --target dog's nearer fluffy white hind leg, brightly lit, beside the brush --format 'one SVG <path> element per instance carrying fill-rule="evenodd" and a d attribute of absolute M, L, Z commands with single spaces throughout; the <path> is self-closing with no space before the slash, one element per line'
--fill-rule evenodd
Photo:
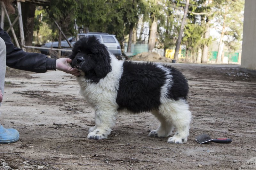
<path fill-rule="evenodd" d="M 170 100 L 168 103 L 161 104 L 159 111 L 176 128 L 175 134 L 168 139 L 168 143 L 186 143 L 191 122 L 191 112 L 188 110 L 187 101 L 183 99 Z"/>

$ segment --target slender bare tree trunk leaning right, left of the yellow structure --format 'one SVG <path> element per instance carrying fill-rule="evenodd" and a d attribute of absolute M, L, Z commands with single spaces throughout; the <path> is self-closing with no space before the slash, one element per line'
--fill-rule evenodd
<path fill-rule="evenodd" d="M 178 55 L 179 55 L 179 50 L 180 50 L 180 43 L 181 43 L 181 39 L 182 39 L 182 34 L 183 34 L 183 30 L 186 24 L 186 19 L 187 19 L 187 14 L 188 14 L 188 6 L 189 6 L 189 0 L 186 0 L 186 6 L 185 6 L 185 11 L 184 11 L 184 15 L 183 15 L 183 19 L 181 22 L 181 26 L 180 26 L 180 33 L 179 33 L 179 37 L 177 39 L 176 42 L 176 48 L 175 48 L 175 53 L 174 53 L 174 60 L 178 61 Z"/>

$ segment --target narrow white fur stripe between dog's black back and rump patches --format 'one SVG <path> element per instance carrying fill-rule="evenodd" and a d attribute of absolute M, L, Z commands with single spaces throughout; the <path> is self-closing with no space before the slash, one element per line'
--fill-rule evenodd
<path fill-rule="evenodd" d="M 159 69 L 163 70 L 164 71 L 164 74 L 165 74 L 165 83 L 164 85 L 161 87 L 161 96 L 160 96 L 160 102 L 161 103 L 166 103 L 168 102 L 168 92 L 169 90 L 172 88 L 172 84 L 173 84 L 173 81 L 172 81 L 172 71 L 170 68 L 168 67 L 164 67 L 163 65 L 161 64 L 157 64 L 156 65 Z"/>

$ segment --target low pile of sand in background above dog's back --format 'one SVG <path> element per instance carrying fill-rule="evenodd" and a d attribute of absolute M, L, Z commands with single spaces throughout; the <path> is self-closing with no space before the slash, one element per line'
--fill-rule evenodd
<path fill-rule="evenodd" d="M 143 52 L 130 57 L 130 60 L 172 63 L 171 59 L 163 57 L 155 52 Z"/>

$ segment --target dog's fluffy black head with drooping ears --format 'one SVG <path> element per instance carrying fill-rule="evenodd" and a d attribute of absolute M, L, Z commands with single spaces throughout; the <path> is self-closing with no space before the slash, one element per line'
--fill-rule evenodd
<path fill-rule="evenodd" d="M 71 66 L 83 71 L 85 77 L 93 82 L 100 81 L 112 69 L 107 47 L 95 36 L 76 41 L 69 58 L 72 59 Z"/>

